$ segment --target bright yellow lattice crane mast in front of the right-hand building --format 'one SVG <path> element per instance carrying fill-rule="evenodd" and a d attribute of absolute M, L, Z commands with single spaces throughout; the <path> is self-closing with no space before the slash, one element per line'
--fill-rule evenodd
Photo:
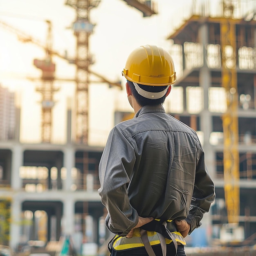
<path fill-rule="evenodd" d="M 236 73 L 236 24 L 232 19 L 234 5 L 223 1 L 223 18 L 220 22 L 222 87 L 227 95 L 227 111 L 223 122 L 224 192 L 228 223 L 239 223 L 239 151 L 238 151 L 238 92 Z"/>

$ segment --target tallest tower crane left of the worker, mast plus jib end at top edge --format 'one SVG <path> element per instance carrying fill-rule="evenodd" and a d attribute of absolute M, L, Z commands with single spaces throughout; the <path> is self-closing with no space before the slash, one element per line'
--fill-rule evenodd
<path fill-rule="evenodd" d="M 151 0 L 124 0 L 127 4 L 143 12 L 145 16 L 156 13 Z M 76 10 L 73 23 L 76 36 L 76 142 L 88 142 L 88 85 L 92 58 L 89 50 L 89 38 L 94 25 L 90 22 L 90 10 L 97 7 L 100 0 L 66 0 L 67 5 Z"/>

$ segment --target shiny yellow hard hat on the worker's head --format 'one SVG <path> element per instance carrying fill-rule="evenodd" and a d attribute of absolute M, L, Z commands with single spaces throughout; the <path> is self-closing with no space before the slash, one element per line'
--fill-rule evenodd
<path fill-rule="evenodd" d="M 173 58 L 155 45 L 143 45 L 133 50 L 122 74 L 127 80 L 142 85 L 171 85 L 176 81 Z"/>

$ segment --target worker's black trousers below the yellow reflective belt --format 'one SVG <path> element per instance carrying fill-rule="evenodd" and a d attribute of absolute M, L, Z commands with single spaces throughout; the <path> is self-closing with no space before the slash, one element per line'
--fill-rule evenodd
<path fill-rule="evenodd" d="M 173 243 L 171 243 L 170 245 L 166 245 L 166 247 L 167 247 L 166 256 L 175 256 L 175 248 L 173 246 Z M 161 245 L 153 245 L 152 248 L 156 256 L 162 255 Z M 112 249 L 110 256 L 148 256 L 148 254 L 146 252 L 145 247 L 138 247 L 138 248 L 123 250 L 123 251 L 115 251 Z M 186 256 L 184 252 L 184 245 L 178 245 L 176 256 Z"/>

